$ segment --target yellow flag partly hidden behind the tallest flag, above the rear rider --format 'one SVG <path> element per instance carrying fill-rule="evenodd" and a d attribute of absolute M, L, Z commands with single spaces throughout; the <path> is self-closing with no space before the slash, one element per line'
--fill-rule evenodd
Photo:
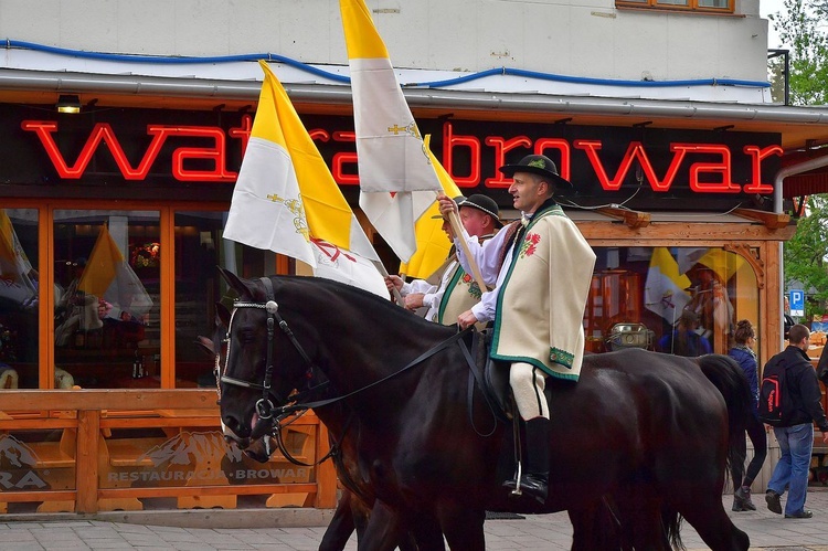
<path fill-rule="evenodd" d="M 428 157 L 432 159 L 432 166 L 434 166 L 437 178 L 443 187 L 443 192 L 452 199 L 463 195 L 463 192 L 457 184 L 452 180 L 443 165 L 439 163 L 432 149 L 428 147 L 432 136 L 426 135 L 425 148 L 428 151 Z M 452 242 L 448 241 L 448 236 L 443 231 L 443 219 L 435 219 L 433 216 L 439 216 L 439 204 L 434 201 L 425 213 L 420 216 L 417 223 L 414 225 L 414 232 L 417 240 L 417 251 L 411 257 L 407 263 L 400 265 L 400 273 L 405 274 L 418 279 L 425 279 L 445 262 L 452 250 Z"/>

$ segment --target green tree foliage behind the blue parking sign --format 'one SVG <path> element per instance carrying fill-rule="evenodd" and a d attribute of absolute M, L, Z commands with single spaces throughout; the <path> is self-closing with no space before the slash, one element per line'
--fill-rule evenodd
<path fill-rule="evenodd" d="M 807 203 L 808 215 L 799 219 L 796 234 L 785 243 L 785 282 L 798 280 L 807 292 L 818 289 L 808 296 L 805 319 L 828 309 L 828 198 L 811 195 Z"/>

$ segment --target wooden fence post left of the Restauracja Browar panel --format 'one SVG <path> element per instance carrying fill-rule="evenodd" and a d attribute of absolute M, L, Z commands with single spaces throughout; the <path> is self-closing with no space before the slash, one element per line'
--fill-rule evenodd
<path fill-rule="evenodd" d="M 75 454 L 76 512 L 98 512 L 98 438 L 100 412 L 77 412 L 77 451 Z"/>

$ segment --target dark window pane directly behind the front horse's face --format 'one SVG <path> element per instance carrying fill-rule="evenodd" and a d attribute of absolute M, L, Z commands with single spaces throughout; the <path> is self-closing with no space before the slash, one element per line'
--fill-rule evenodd
<path fill-rule="evenodd" d="M 242 277 L 276 273 L 270 251 L 222 237 L 226 212 L 176 213 L 176 386 L 215 386 L 213 357 L 197 342 L 212 338 L 215 304 L 232 305 L 216 266 Z"/>

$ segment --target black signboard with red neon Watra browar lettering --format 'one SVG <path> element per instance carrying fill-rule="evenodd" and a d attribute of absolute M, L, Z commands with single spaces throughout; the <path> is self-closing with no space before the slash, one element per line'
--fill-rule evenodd
<path fill-rule="evenodd" d="M 0 150 L 6 184 L 142 189 L 199 186 L 230 198 L 252 129 L 251 114 L 109 109 L 94 117 L 46 115 L 0 106 L 0 126 L 13 139 Z M 331 172 L 355 197 L 353 119 L 302 117 Z M 552 158 L 572 181 L 571 200 L 650 210 L 769 210 L 781 166 L 778 134 L 421 119 L 431 147 L 467 194 L 508 203 L 498 170 L 527 153 Z M 0 190 L 2 190 L 0 183 Z M 144 184 L 144 187 L 141 186 Z M 692 197 L 692 202 L 686 199 Z"/>

